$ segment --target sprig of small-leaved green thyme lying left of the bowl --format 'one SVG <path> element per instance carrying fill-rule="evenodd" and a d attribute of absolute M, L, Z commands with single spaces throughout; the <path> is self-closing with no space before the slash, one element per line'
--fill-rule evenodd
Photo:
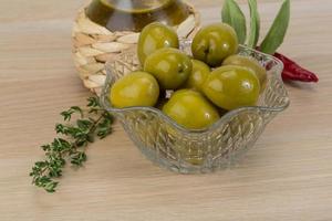
<path fill-rule="evenodd" d="M 56 124 L 59 137 L 41 148 L 45 159 L 37 161 L 30 176 L 32 183 L 48 192 L 54 192 L 68 161 L 75 167 L 82 167 L 86 161 L 86 147 L 95 137 L 103 139 L 112 134 L 113 117 L 101 108 L 97 97 L 87 99 L 87 109 L 73 106 L 62 112 L 64 124 Z M 75 120 L 73 119 L 75 116 Z"/>

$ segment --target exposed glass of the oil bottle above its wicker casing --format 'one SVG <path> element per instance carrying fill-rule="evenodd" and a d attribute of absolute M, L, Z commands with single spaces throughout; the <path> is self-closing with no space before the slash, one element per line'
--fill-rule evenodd
<path fill-rule="evenodd" d="M 139 32 L 154 21 L 180 24 L 189 10 L 181 0 L 93 0 L 86 15 L 112 32 Z"/>

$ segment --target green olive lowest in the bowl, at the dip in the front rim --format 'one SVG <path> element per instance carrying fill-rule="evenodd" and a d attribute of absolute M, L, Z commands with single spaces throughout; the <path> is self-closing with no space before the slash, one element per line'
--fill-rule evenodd
<path fill-rule="evenodd" d="M 219 119 L 216 107 L 200 93 L 191 90 L 175 92 L 163 112 L 187 129 L 204 129 Z"/>

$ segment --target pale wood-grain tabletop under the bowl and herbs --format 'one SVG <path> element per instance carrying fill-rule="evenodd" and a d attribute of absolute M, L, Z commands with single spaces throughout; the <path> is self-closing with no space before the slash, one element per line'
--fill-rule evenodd
<path fill-rule="evenodd" d="M 71 60 L 71 25 L 81 0 L 0 0 L 0 220 L 332 220 L 332 1 L 292 0 L 280 51 L 320 83 L 288 84 L 291 106 L 240 165 L 203 176 L 153 166 L 116 125 L 68 168 L 55 194 L 30 185 L 59 113 L 90 95 Z M 204 23 L 221 1 L 193 0 Z M 245 1 L 241 1 L 245 2 Z M 259 1 L 262 32 L 280 1 Z M 245 4 L 243 4 L 245 7 Z M 248 10 L 246 10 L 248 12 Z"/>

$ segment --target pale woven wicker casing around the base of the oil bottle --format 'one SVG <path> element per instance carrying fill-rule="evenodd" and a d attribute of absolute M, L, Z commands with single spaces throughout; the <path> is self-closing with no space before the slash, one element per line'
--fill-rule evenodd
<path fill-rule="evenodd" d="M 85 15 L 85 7 L 75 19 L 72 39 L 73 57 L 84 86 L 100 94 L 106 80 L 104 64 L 124 50 L 136 46 L 139 33 L 111 32 L 92 22 Z M 180 39 L 188 39 L 197 31 L 200 17 L 194 7 L 188 4 L 190 15 L 178 27 L 174 27 Z"/>

